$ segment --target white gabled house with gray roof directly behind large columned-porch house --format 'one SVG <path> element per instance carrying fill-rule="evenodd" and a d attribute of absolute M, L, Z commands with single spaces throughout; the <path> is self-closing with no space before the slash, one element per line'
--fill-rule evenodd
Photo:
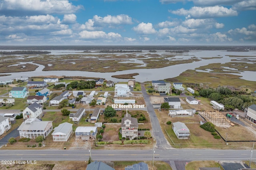
<path fill-rule="evenodd" d="M 37 103 L 29 105 L 28 107 L 26 107 L 26 109 L 22 111 L 23 119 L 25 120 L 34 117 L 40 119 L 42 117 L 42 114 L 43 107 Z"/>

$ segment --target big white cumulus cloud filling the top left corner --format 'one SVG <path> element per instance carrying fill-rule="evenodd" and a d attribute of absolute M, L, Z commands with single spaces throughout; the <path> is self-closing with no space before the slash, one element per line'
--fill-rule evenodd
<path fill-rule="evenodd" d="M 68 0 L 2 0 L 0 14 L 72 14 L 83 6 L 74 6 Z M 15 11 L 15 12 L 14 12 Z"/>

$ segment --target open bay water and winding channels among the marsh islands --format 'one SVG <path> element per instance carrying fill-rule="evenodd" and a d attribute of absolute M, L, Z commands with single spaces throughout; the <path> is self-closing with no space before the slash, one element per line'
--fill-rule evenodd
<path fill-rule="evenodd" d="M 5 49 L 3 49 L 5 47 Z M 50 51 L 50 55 L 66 55 L 66 54 L 95 54 L 95 53 L 82 53 L 83 51 L 92 51 L 92 52 L 96 52 L 96 51 L 100 51 L 102 50 L 102 46 L 96 48 L 96 47 L 90 47 L 90 48 L 86 48 L 86 49 L 80 49 L 82 48 L 82 46 L 74 46 L 77 48 L 69 48 L 69 49 L 62 49 L 62 48 L 68 48 L 66 46 L 56 46 L 56 49 L 52 49 L 52 46 L 36 46 L 36 47 L 30 47 L 29 46 L 25 46 L 25 47 L 20 47 L 20 46 L 16 46 L 16 47 L 12 47 L 12 49 L 10 49 L 9 46 L 0 46 L 0 51 L 18 51 L 18 50 L 35 50 L 35 51 Z M 8 48 L 9 49 L 8 49 Z M 72 46 L 73 47 L 73 46 Z M 86 46 L 87 47 L 87 46 Z M 124 71 L 117 71 L 117 72 L 88 72 L 88 71 L 69 71 L 69 70 L 59 70 L 59 71 L 42 71 L 42 69 L 44 68 L 43 65 L 40 64 L 35 64 L 38 65 L 39 67 L 36 68 L 36 70 L 34 71 L 30 71 L 30 72 L 10 72 L 10 73 L 1 73 L 1 74 L 11 74 L 10 76 L 0 76 L 0 80 L 7 80 L 7 79 L 15 79 L 16 77 L 32 77 L 32 76 L 51 76 L 51 75 L 55 75 L 55 76 L 86 76 L 86 77 L 99 77 L 99 78 L 105 78 L 106 80 L 113 80 L 113 81 L 127 81 L 126 79 L 118 79 L 118 78 L 113 78 L 111 77 L 112 75 L 119 75 L 119 74 L 131 74 L 131 73 L 139 73 L 139 75 L 134 76 L 135 80 L 138 82 L 145 82 L 145 81 L 151 81 L 151 80 L 162 80 L 162 79 L 166 79 L 166 78 L 173 78 L 176 76 L 179 76 L 182 72 L 186 71 L 186 70 L 194 70 L 197 67 L 200 66 L 205 66 L 211 63 L 228 63 L 228 62 L 232 62 L 231 59 L 242 59 L 242 58 L 252 58 L 256 59 L 256 51 L 254 50 L 250 50 L 247 52 L 242 52 L 242 51 L 226 51 L 228 49 L 230 49 L 230 47 L 228 47 L 226 49 L 226 47 L 222 47 L 222 46 L 214 46 L 216 47 L 215 49 L 213 47 L 204 47 L 202 46 L 202 49 L 199 50 L 199 47 L 182 47 L 182 49 L 176 47 L 166 47 L 166 46 L 128 46 L 128 47 L 123 47 L 123 46 L 110 46 L 110 47 L 106 47 L 103 46 L 103 50 L 109 49 L 109 50 L 119 50 L 122 47 L 122 50 L 131 50 L 131 51 L 136 51 L 136 50 L 142 50 L 142 52 L 129 52 L 136 55 L 146 55 L 148 53 L 152 53 L 152 54 L 158 54 L 158 55 L 163 55 L 163 54 L 170 54 L 173 55 L 173 53 L 168 53 L 165 50 L 190 50 L 189 52 L 185 52 L 182 54 L 177 54 L 176 59 L 190 59 L 191 57 L 196 57 L 198 59 L 200 59 L 201 61 L 196 61 L 193 63 L 186 63 L 186 64 L 176 64 L 173 66 L 167 66 L 164 68 L 150 68 L 150 69 L 133 69 L 133 70 L 124 70 Z M 49 50 L 50 48 L 50 50 Z M 106 49 L 105 49 L 106 48 Z M 246 48 L 246 47 L 241 47 L 241 48 Z M 149 52 L 149 50 L 154 49 L 157 52 Z M 194 49 L 194 50 L 192 50 Z M 196 50 L 195 50 L 196 49 Z M 212 50 L 209 50 L 212 49 Z M 216 50 L 217 49 L 217 50 Z M 247 48 L 246 48 L 247 49 Z M 113 53 L 99 53 L 99 54 L 113 54 Z M 114 53 L 116 55 L 122 55 L 124 53 Z M 175 54 L 174 54 L 175 55 Z M 228 57 L 227 55 L 235 55 L 238 57 Z M 246 57 L 243 57 L 246 56 Z M 248 57 L 249 56 L 249 57 Z M 18 58 L 19 56 L 17 56 Z M 222 57 L 221 59 L 201 59 L 201 57 L 204 58 L 211 58 L 211 57 Z M 171 59 L 171 58 L 170 58 Z M 104 59 L 103 59 L 104 60 Z M 136 58 L 132 58 L 132 59 L 127 59 L 130 62 L 134 62 L 134 63 L 141 63 L 141 61 L 138 61 Z M 72 62 L 75 62 L 75 60 L 72 60 Z M 241 62 L 241 61 L 239 61 Z M 248 61 L 245 61 L 248 62 Z M 30 63 L 30 62 L 28 62 Z M 252 63 L 252 62 L 249 62 Z M 139 67 L 139 66 L 138 66 Z M 236 69 L 233 69 L 236 70 Z M 203 71 L 203 70 L 197 70 L 197 71 Z M 204 71 L 204 72 L 209 72 L 208 71 Z M 240 73 L 232 73 L 235 75 L 239 75 L 242 76 L 241 78 L 244 80 L 251 80 L 251 81 L 256 81 L 256 69 L 254 71 L 244 71 L 244 72 L 240 72 Z"/>

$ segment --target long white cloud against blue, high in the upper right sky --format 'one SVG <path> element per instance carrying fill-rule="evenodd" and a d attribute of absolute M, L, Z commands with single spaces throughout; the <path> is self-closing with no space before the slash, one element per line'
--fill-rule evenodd
<path fill-rule="evenodd" d="M 197 7 L 194 6 L 189 10 L 181 8 L 176 11 L 169 10 L 172 14 L 180 16 L 188 16 L 188 18 L 215 18 L 215 17 L 228 17 L 237 16 L 238 13 L 232 9 L 223 6 L 210 6 L 210 7 Z"/>

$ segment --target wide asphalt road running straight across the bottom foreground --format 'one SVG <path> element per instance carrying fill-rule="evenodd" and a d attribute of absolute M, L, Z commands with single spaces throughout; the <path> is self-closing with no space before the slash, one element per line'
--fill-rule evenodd
<path fill-rule="evenodd" d="M 0 160 L 88 160 L 145 161 L 153 159 L 152 150 L 0 150 Z M 169 149 L 156 150 L 154 160 L 249 160 L 250 150 Z M 256 160 L 253 152 L 252 160 Z"/>

